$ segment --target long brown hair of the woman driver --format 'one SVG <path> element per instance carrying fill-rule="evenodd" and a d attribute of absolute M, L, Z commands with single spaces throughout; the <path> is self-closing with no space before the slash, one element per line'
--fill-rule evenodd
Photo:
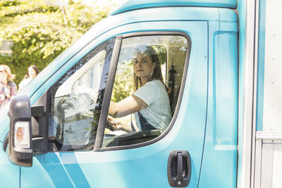
<path fill-rule="evenodd" d="M 156 63 L 156 68 L 154 68 L 152 76 L 150 77 L 149 81 L 152 80 L 160 80 L 161 83 L 164 84 L 163 76 L 161 74 L 161 63 L 159 61 L 159 56 L 157 55 L 157 52 L 152 48 L 152 46 L 146 46 L 146 45 L 140 45 L 136 46 L 133 50 L 133 54 L 144 54 L 146 53 L 152 60 L 152 63 Z M 141 78 L 137 77 L 137 75 L 134 74 L 134 88 L 137 90 L 142 85 Z M 164 84 L 164 87 L 166 87 L 166 84 Z M 168 91 L 168 87 L 166 87 L 166 91 Z"/>

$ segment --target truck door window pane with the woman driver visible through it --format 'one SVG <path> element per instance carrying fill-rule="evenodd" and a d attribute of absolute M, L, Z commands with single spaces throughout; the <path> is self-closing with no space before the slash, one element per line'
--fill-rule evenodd
<path fill-rule="evenodd" d="M 180 35 L 122 41 L 102 147 L 159 137 L 171 123 L 188 51 Z"/>

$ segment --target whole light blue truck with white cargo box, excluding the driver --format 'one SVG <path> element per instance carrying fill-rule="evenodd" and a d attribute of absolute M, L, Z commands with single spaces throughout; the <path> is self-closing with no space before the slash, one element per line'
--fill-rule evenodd
<path fill-rule="evenodd" d="M 0 187 L 281 187 L 281 8 L 125 1 L 1 109 Z M 152 130 L 109 115 L 136 92 L 137 46 L 168 91 Z"/>

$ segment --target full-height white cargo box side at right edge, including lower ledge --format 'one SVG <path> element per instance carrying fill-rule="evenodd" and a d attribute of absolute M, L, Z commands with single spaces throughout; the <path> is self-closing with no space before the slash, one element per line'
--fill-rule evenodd
<path fill-rule="evenodd" d="M 263 127 L 256 132 L 255 187 L 281 188 L 282 1 L 266 0 L 265 4 Z"/>

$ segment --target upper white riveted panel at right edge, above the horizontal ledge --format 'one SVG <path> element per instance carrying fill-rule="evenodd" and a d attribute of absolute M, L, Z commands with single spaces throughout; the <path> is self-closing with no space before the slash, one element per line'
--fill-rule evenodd
<path fill-rule="evenodd" d="M 281 0 L 266 1 L 263 130 L 276 134 L 282 133 L 281 10 Z"/>

